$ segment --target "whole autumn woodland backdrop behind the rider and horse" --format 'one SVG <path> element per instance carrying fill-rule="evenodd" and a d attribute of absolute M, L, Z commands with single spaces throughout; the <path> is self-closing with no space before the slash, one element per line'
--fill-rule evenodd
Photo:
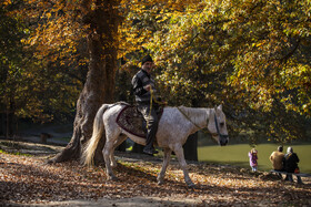
<path fill-rule="evenodd" d="M 223 104 L 231 138 L 310 137 L 309 0 L 0 4 L 1 135 L 12 137 L 20 122 L 66 123 L 76 115 L 71 143 L 84 143 L 100 104 L 133 103 L 130 80 L 151 54 L 163 100 Z M 79 106 L 88 103 L 97 105 Z"/>

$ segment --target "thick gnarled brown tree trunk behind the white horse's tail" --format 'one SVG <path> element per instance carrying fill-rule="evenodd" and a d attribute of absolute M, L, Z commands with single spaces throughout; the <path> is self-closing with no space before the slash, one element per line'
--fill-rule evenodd
<path fill-rule="evenodd" d="M 88 3 L 87 1 L 84 3 Z M 59 163 L 80 158 L 81 149 L 92 135 L 93 120 L 103 103 L 112 103 L 114 94 L 114 74 L 117 69 L 117 31 L 119 15 L 116 0 L 97 1 L 97 9 L 89 9 L 84 23 L 90 24 L 88 49 L 89 71 L 84 87 L 77 102 L 73 134 L 67 147 L 49 163 Z M 86 4 L 82 3 L 82 7 Z M 84 8 L 86 9 L 86 8 Z M 100 143 L 94 162 L 103 162 Z"/>

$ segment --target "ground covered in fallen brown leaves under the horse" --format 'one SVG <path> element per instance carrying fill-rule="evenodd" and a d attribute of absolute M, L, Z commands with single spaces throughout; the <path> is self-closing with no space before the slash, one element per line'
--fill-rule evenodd
<path fill-rule="evenodd" d="M 119 180 L 108 182 L 102 168 L 87 168 L 74 161 L 46 165 L 42 156 L 1 153 L 0 204 L 62 205 L 66 203 L 56 201 L 81 200 L 87 205 L 86 200 L 91 204 L 104 199 L 114 200 L 107 205 L 118 206 L 118 200 L 146 198 L 149 206 L 311 205 L 310 178 L 302 178 L 304 185 L 297 185 L 239 167 L 192 163 L 189 172 L 197 188 L 188 188 L 178 163 L 172 161 L 165 184 L 159 186 L 156 178 L 160 158 L 128 153 L 117 153 L 117 158 L 119 166 L 114 172 Z"/>

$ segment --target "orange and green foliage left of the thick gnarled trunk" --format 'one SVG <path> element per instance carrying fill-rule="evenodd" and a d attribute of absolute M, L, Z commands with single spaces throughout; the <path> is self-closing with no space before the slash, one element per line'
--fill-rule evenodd
<path fill-rule="evenodd" d="M 31 3 L 38 3 L 38 10 L 32 10 Z M 74 77 L 78 77 L 76 80 L 70 74 L 71 70 L 52 71 L 53 66 L 60 69 L 64 64 L 77 65 L 77 49 L 72 39 L 68 38 L 68 24 L 54 18 L 56 10 L 39 12 L 41 7 L 49 8 L 50 4 L 46 3 L 10 2 L 1 8 L 0 24 L 3 38 L 1 42 L 7 44 L 1 46 L 2 53 L 0 52 L 2 60 L 6 60 L 1 65 L 2 112 L 40 122 L 71 112 L 81 86 L 78 73 L 74 74 Z M 52 20 L 58 25 L 51 23 Z M 43 24 L 44 22 L 48 23 Z M 53 31 L 53 35 L 64 42 L 60 43 L 53 37 L 47 35 L 48 30 Z M 2 35 L 2 32 L 6 35 Z M 68 51 L 60 48 L 68 48 L 72 55 L 68 58 Z"/>

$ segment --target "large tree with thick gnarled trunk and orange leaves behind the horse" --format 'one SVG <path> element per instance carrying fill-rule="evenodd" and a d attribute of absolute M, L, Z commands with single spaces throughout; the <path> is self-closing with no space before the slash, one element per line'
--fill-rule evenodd
<path fill-rule="evenodd" d="M 119 4 L 120 1 L 116 0 L 4 1 L 6 7 L 13 7 L 16 14 L 29 22 L 30 37 L 22 42 L 36 51 L 32 54 L 38 60 L 47 63 L 44 71 L 59 68 L 64 74 L 74 76 L 71 68 L 88 64 L 83 90 L 77 102 L 73 135 L 64 151 L 50 162 L 79 158 L 83 144 L 92 134 L 98 108 L 102 103 L 113 102 L 118 25 L 121 20 Z M 83 42 L 87 42 L 88 56 L 79 59 Z M 36 71 L 28 72 L 37 74 Z M 79 79 L 79 75 L 76 77 Z M 44 82 L 42 85 L 49 87 Z M 58 90 L 66 91 L 61 85 Z M 102 156 L 99 156 L 99 162 L 101 159 Z"/>

